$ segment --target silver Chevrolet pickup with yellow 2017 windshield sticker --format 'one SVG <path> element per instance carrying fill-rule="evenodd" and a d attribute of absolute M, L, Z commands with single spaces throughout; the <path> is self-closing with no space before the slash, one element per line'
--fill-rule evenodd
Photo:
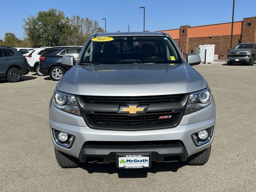
<path fill-rule="evenodd" d="M 215 131 L 215 103 L 206 80 L 165 33 L 90 36 L 50 101 L 50 132 L 58 164 L 151 162 L 205 164 Z"/>

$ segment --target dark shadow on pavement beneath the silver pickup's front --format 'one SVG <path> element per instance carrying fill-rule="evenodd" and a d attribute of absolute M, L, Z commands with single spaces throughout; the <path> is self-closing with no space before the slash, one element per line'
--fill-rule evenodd
<path fill-rule="evenodd" d="M 156 163 L 152 162 L 151 168 L 144 169 L 118 169 L 115 163 L 111 164 L 94 164 L 84 163 L 80 168 L 86 170 L 88 173 L 108 173 L 118 174 L 118 178 L 146 178 L 148 173 L 157 172 L 177 172 L 179 168 L 186 166 L 183 162 L 164 162 Z"/>

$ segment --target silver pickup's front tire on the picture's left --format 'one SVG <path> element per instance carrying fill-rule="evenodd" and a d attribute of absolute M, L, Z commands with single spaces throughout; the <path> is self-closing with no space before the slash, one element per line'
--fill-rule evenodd
<path fill-rule="evenodd" d="M 62 167 L 62 168 L 77 168 L 80 166 L 80 161 L 78 158 L 75 158 L 71 155 L 65 154 L 65 153 L 57 150 L 56 148 L 54 148 L 54 150 L 55 150 L 56 160 L 60 167 Z"/>

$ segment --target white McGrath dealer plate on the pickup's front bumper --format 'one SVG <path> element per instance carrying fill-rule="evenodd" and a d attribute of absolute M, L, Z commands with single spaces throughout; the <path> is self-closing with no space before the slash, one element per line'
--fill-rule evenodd
<path fill-rule="evenodd" d="M 124 169 L 150 168 L 151 154 L 116 154 L 116 166 Z"/>

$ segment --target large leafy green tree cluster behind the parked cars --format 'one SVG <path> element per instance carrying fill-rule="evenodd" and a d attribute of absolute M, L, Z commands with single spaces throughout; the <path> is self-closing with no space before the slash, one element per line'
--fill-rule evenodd
<path fill-rule="evenodd" d="M 64 12 L 53 8 L 39 11 L 37 16 L 29 16 L 23 21 L 24 34 L 33 47 L 80 45 L 91 34 L 104 31 L 97 21 L 80 16 L 68 18 Z"/>

